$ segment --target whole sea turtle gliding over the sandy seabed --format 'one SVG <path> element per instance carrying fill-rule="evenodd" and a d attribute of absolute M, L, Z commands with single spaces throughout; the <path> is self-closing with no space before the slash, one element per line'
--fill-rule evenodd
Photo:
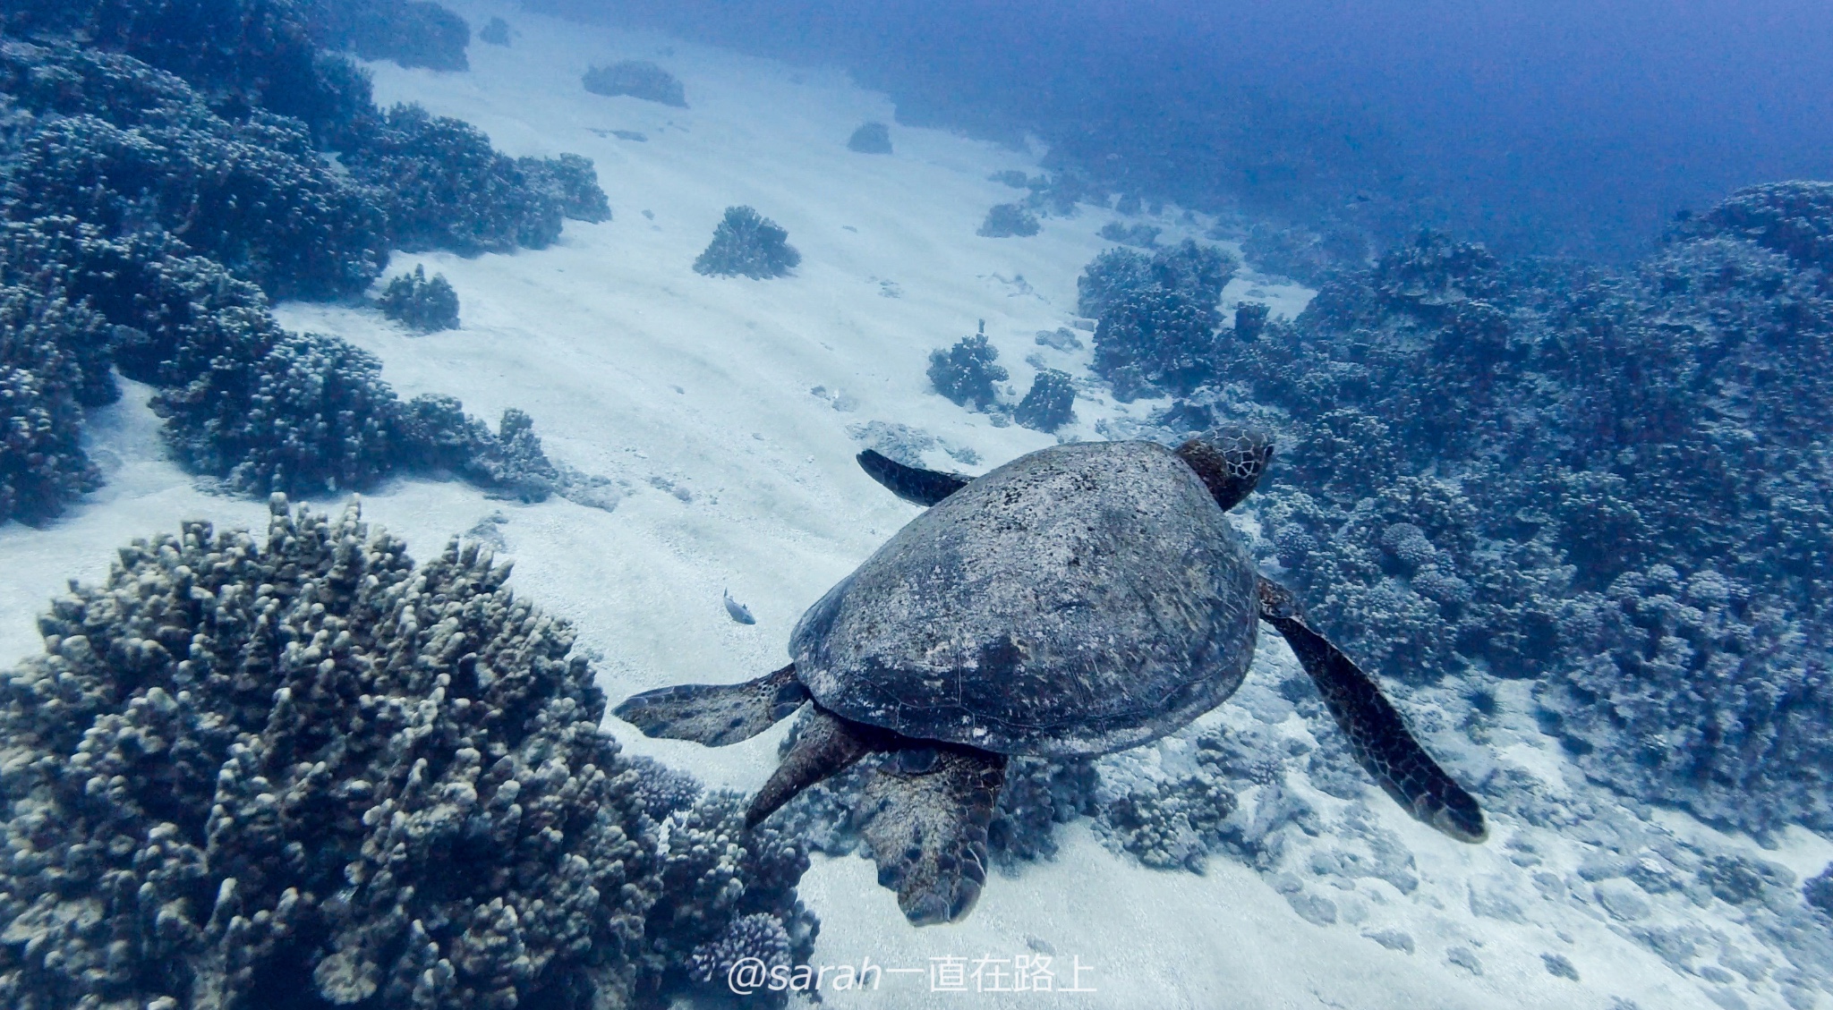
<path fill-rule="evenodd" d="M 616 709 L 651 737 L 724 746 L 812 704 L 746 825 L 887 752 L 862 808 L 878 880 L 911 922 L 959 920 L 986 882 L 1010 755 L 1098 755 L 1177 731 L 1241 686 L 1265 620 L 1389 796 L 1452 838 L 1487 836 L 1477 801 L 1292 594 L 1256 572 L 1230 526 L 1224 511 L 1272 460 L 1267 436 L 1052 445 L 975 478 L 874 451 L 858 460 L 933 508 L 801 616 L 794 662 Z"/>

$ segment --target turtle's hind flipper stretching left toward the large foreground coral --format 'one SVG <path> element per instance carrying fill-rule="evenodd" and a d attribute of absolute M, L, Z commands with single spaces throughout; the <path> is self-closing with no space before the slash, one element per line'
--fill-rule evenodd
<path fill-rule="evenodd" d="M 808 700 L 796 664 L 744 684 L 678 684 L 623 700 L 612 715 L 645 737 L 726 746 L 775 726 Z"/>

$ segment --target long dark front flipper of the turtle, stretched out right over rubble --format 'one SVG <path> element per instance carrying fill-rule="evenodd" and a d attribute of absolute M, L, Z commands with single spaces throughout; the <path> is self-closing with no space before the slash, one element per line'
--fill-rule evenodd
<path fill-rule="evenodd" d="M 1259 581 L 1261 620 L 1279 629 L 1305 673 L 1318 684 L 1349 750 L 1375 783 L 1415 819 L 1459 841 L 1483 841 L 1483 808 L 1419 746 L 1375 680 L 1305 623 L 1290 590 Z"/>

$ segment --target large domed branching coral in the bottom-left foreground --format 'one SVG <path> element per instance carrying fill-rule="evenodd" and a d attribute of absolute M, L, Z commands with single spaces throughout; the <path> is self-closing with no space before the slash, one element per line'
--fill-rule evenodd
<path fill-rule="evenodd" d="M 7 1005 L 623 1001 L 654 823 L 506 577 L 277 499 L 59 598 L 0 678 Z"/>

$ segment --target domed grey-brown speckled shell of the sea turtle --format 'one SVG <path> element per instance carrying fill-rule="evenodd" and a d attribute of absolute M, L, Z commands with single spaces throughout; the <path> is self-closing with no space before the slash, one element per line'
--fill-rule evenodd
<path fill-rule="evenodd" d="M 790 654 L 845 719 L 999 753 L 1107 753 L 1241 686 L 1256 579 L 1166 447 L 1054 445 L 913 519 L 803 614 Z"/>

